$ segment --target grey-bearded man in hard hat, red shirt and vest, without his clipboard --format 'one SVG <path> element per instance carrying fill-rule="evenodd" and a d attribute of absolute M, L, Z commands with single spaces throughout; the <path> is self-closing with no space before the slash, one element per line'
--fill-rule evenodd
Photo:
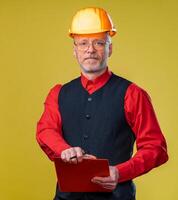
<path fill-rule="evenodd" d="M 37 141 L 51 160 L 61 157 L 77 164 L 86 154 L 108 159 L 110 176 L 91 181 L 111 192 L 64 193 L 57 187 L 54 199 L 135 200 L 132 179 L 168 160 L 150 98 L 109 70 L 116 29 L 105 10 L 79 10 L 69 34 L 81 76 L 50 90 L 37 125 Z M 137 152 L 132 156 L 135 141 Z"/>

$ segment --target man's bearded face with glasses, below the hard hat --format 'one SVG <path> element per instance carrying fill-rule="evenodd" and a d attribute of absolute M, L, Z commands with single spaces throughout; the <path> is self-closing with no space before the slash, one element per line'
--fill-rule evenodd
<path fill-rule="evenodd" d="M 75 35 L 74 55 L 84 73 L 100 72 L 107 67 L 112 53 L 106 33 Z"/>

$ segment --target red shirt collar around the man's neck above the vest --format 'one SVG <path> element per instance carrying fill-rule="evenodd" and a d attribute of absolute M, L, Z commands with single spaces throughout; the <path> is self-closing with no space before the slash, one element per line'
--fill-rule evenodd
<path fill-rule="evenodd" d="M 112 72 L 110 72 L 107 68 L 103 74 L 101 74 L 94 80 L 88 80 L 88 78 L 81 73 L 82 86 L 88 91 L 89 94 L 92 94 L 108 82 L 111 74 Z"/>

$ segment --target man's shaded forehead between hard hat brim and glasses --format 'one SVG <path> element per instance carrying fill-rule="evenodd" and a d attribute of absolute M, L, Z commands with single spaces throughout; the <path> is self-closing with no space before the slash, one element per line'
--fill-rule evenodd
<path fill-rule="evenodd" d="M 95 34 L 80 34 L 74 35 L 74 40 L 81 40 L 81 39 L 106 39 L 107 33 L 95 33 Z"/>

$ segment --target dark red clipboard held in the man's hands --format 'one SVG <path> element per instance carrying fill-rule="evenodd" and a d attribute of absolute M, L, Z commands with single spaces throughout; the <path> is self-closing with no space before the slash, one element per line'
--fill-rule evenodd
<path fill-rule="evenodd" d="M 70 164 L 60 158 L 54 160 L 58 186 L 62 192 L 111 192 L 91 182 L 95 176 L 109 176 L 107 159 L 83 159 L 81 163 Z"/>

